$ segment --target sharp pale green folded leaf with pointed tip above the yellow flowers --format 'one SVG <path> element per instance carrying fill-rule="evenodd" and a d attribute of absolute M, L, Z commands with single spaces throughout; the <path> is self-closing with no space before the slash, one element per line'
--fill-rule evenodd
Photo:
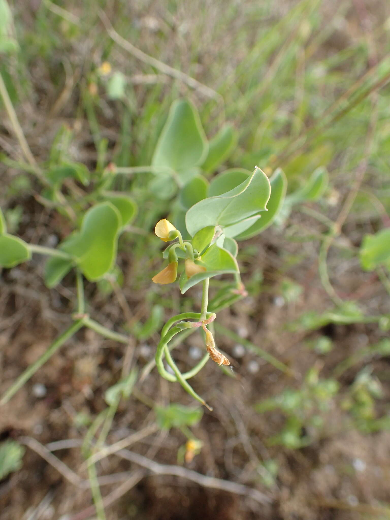
<path fill-rule="evenodd" d="M 264 211 L 271 193 L 268 177 L 257 166 L 235 188 L 190 207 L 186 226 L 191 236 L 206 226 L 229 226 Z M 230 235 L 231 236 L 231 235 Z"/>

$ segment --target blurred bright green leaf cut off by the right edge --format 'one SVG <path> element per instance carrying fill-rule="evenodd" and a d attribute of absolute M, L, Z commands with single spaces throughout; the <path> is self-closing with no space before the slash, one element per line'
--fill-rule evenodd
<path fill-rule="evenodd" d="M 390 229 L 365 235 L 360 246 L 360 264 L 365 271 L 384 265 L 390 269 Z"/>

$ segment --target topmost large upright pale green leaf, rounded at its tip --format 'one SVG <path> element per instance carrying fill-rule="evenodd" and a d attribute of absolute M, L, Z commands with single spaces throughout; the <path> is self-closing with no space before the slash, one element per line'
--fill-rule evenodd
<path fill-rule="evenodd" d="M 202 164 L 207 149 L 197 109 L 185 99 L 174 101 L 154 150 L 152 165 L 170 168 L 180 177 L 185 170 Z"/>

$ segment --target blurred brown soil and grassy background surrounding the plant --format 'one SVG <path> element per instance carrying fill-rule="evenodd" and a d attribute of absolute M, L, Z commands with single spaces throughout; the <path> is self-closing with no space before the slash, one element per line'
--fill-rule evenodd
<path fill-rule="evenodd" d="M 151 282 L 161 252 L 151 231 L 170 201 L 150 188 L 151 174 L 119 176 L 138 215 L 121 237 L 118 270 L 85 294 L 131 344 L 81 331 L 3 406 L 0 518 L 390 518 L 390 281 L 359 261 L 363 237 L 390 224 L 388 2 L 30 0 L 9 2 L 11 20 L 4 5 L 0 206 L 9 232 L 54 246 L 72 229 L 32 164 L 149 165 L 183 97 L 207 137 L 225 122 L 237 129 L 224 167 L 257 164 L 271 175 L 280 166 L 292 192 L 324 166 L 329 186 L 241 243 L 249 295 L 215 326 L 236 378 L 206 365 L 194 387 L 214 411 L 202 417 L 176 405 L 193 405 L 180 386 L 145 370 L 163 314 L 199 302 L 197 288 L 181 297 Z M 77 187 L 65 184 L 64 195 Z M 72 276 L 47 290 L 43 269 L 34 257 L 0 275 L 2 394 L 74 311 Z M 178 362 L 193 364 L 201 348 L 191 336 Z M 124 365 L 144 378 L 130 372 L 116 403 Z M 87 472 L 81 444 L 113 403 L 108 444 L 140 435 L 122 458 L 103 453 Z"/>

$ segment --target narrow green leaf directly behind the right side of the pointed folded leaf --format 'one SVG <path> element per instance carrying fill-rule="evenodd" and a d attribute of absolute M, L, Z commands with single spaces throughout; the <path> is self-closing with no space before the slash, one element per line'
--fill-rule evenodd
<path fill-rule="evenodd" d="M 271 196 L 267 203 L 267 212 L 261 213 L 261 218 L 257 220 L 251 227 L 246 231 L 236 235 L 237 240 L 246 240 L 258 235 L 261 231 L 264 231 L 268 226 L 274 222 L 277 214 L 283 206 L 285 192 L 287 190 L 287 178 L 283 171 L 278 168 L 274 175 L 269 179 L 271 184 Z M 225 231 L 226 232 L 226 231 Z M 228 234 L 228 233 L 226 233 Z"/>

